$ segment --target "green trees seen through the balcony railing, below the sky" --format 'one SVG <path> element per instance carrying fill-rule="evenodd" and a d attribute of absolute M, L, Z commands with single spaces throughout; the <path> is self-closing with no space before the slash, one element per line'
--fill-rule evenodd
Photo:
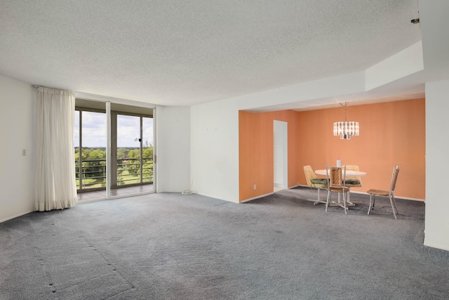
<path fill-rule="evenodd" d="M 142 182 L 153 181 L 153 147 L 145 142 L 142 149 Z M 79 148 L 75 148 L 76 185 L 79 188 Z M 83 188 L 104 187 L 106 177 L 106 149 L 82 148 Z M 117 149 L 117 185 L 140 183 L 140 149 Z"/>

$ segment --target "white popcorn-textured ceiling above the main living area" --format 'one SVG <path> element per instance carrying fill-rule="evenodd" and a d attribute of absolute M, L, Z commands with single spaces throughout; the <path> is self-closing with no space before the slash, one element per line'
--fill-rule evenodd
<path fill-rule="evenodd" d="M 194 105 L 365 70 L 421 39 L 417 0 L 0 0 L 0 74 Z"/>

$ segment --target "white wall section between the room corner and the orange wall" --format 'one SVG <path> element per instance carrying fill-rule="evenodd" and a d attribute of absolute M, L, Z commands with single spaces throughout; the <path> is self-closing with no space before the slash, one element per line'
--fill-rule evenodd
<path fill-rule="evenodd" d="M 192 190 L 239 202 L 239 107 L 233 100 L 192 106 Z"/>

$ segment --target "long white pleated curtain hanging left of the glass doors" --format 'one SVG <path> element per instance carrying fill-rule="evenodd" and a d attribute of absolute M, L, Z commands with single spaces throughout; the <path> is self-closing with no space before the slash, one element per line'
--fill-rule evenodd
<path fill-rule="evenodd" d="M 74 119 L 74 92 L 37 89 L 36 211 L 64 209 L 78 202 Z"/>

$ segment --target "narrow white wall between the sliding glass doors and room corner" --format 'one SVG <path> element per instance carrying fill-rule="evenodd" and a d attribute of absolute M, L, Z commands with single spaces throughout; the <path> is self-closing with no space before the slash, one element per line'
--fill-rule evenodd
<path fill-rule="evenodd" d="M 190 107 L 156 108 L 156 191 L 190 188 Z"/>

